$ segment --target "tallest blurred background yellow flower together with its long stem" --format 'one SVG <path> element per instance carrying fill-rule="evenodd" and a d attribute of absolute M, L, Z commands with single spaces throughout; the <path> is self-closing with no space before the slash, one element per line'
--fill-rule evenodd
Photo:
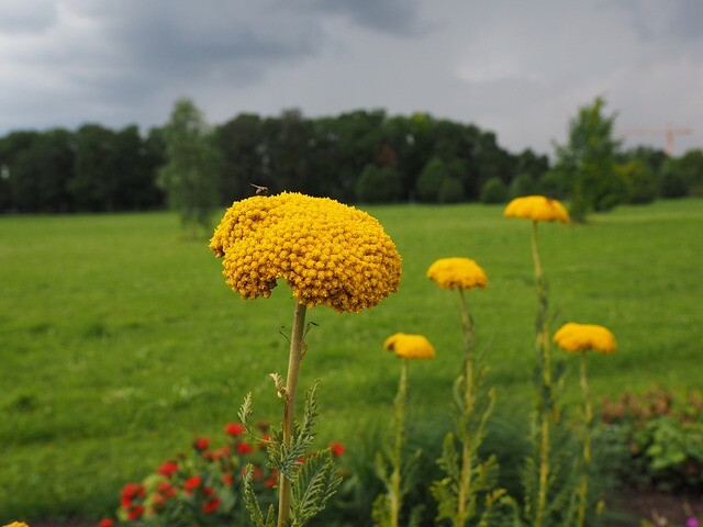
<path fill-rule="evenodd" d="M 537 356 L 537 404 L 535 450 L 539 460 L 537 498 L 532 511 L 534 527 L 542 527 L 547 509 L 547 497 L 551 480 L 550 451 L 551 424 L 558 422 L 559 410 L 554 393 L 554 373 L 549 340 L 549 287 L 542 268 L 538 248 L 538 222 L 568 223 L 569 213 L 561 203 L 544 195 L 516 198 L 505 208 L 506 217 L 532 221 L 532 256 L 535 267 L 537 291 L 536 356 Z"/>

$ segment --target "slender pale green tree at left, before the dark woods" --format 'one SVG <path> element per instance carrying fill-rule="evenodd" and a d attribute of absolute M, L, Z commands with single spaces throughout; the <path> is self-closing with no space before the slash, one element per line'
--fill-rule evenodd
<path fill-rule="evenodd" d="M 167 160 L 158 171 L 158 184 L 191 237 L 199 227 L 209 232 L 219 202 L 222 154 L 202 113 L 190 99 L 176 101 L 164 126 L 164 141 Z"/>

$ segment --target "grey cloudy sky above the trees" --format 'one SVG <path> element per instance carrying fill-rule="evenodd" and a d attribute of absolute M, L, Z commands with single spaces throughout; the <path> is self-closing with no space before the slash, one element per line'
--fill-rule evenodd
<path fill-rule="evenodd" d="M 598 96 L 703 147 L 703 0 L 0 0 L 0 135 L 238 113 L 428 112 L 551 154 Z M 639 135 L 637 135 L 639 134 Z"/>

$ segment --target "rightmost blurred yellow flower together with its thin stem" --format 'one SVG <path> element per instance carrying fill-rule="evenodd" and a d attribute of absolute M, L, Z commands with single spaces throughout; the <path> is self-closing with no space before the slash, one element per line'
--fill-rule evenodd
<path fill-rule="evenodd" d="M 589 472 L 591 468 L 591 429 L 593 427 L 593 405 L 587 372 L 587 352 L 612 354 L 617 345 L 610 329 L 595 324 L 576 324 L 570 322 L 555 333 L 554 341 L 565 351 L 581 356 L 579 380 L 583 395 L 583 448 L 581 453 L 581 479 L 577 490 L 579 507 L 576 527 L 585 523 L 585 507 L 589 494 Z"/>

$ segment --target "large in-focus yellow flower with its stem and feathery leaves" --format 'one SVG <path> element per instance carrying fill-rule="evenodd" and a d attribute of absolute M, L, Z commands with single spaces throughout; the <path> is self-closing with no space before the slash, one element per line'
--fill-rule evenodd
<path fill-rule="evenodd" d="M 297 424 L 298 379 L 306 346 L 308 307 L 327 305 L 342 313 L 372 307 L 398 291 L 401 258 L 377 220 L 326 198 L 283 192 L 235 202 L 215 229 L 210 248 L 223 258 L 226 283 L 244 299 L 268 298 L 284 280 L 295 298 L 286 381 L 271 373 L 283 401 L 280 429 L 266 439 L 268 466 L 278 471 L 278 514 L 265 514 L 252 490 L 253 468 L 244 496 L 257 527 L 302 526 L 321 512 L 341 483 L 328 450 L 305 456 L 314 440 L 317 381 L 308 390 L 302 422 Z M 248 424 L 252 394 L 239 417 Z M 301 458 L 304 463 L 300 463 Z"/>

